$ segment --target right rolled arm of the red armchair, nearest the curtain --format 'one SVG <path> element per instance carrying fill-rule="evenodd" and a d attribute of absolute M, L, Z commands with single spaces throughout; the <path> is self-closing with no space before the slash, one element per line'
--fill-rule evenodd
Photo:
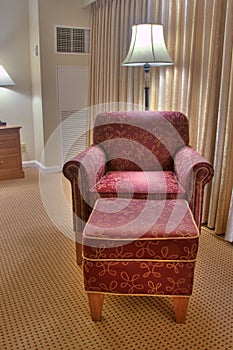
<path fill-rule="evenodd" d="M 212 165 L 192 147 L 182 147 L 174 159 L 176 176 L 187 193 L 187 200 L 200 229 L 205 185 L 214 175 Z"/>

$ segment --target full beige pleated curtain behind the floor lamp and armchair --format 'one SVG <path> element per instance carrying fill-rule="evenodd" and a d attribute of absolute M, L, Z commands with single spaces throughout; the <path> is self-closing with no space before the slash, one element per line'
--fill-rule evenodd
<path fill-rule="evenodd" d="M 174 66 L 151 69 L 150 109 L 179 110 L 212 162 L 203 222 L 225 232 L 233 186 L 233 0 L 98 0 L 92 5 L 90 104 L 143 106 L 143 68 L 122 67 L 131 26 L 161 23 Z M 108 106 L 109 106 L 108 105 Z M 116 106 L 116 105 L 114 105 Z"/>

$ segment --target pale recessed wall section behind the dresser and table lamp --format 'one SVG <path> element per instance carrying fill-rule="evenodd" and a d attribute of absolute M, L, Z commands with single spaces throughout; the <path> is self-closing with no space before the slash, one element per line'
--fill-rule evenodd
<path fill-rule="evenodd" d="M 0 119 L 21 125 L 24 159 L 34 159 L 28 0 L 0 0 L 0 64 L 15 86 L 0 88 Z"/>

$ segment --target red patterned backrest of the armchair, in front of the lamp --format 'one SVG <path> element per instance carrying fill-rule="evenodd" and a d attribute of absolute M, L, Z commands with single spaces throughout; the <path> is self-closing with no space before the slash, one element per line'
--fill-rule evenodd
<path fill-rule="evenodd" d="M 96 116 L 93 142 L 107 170 L 172 170 L 176 152 L 189 143 L 187 117 L 173 111 L 117 111 Z"/>

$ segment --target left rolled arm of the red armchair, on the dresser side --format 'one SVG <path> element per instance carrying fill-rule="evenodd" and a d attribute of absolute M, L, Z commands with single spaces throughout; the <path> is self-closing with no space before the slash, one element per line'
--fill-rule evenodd
<path fill-rule="evenodd" d="M 103 150 L 91 145 L 63 166 L 63 174 L 71 183 L 75 232 L 82 232 L 88 220 L 91 210 L 88 191 L 103 176 L 105 163 Z"/>

